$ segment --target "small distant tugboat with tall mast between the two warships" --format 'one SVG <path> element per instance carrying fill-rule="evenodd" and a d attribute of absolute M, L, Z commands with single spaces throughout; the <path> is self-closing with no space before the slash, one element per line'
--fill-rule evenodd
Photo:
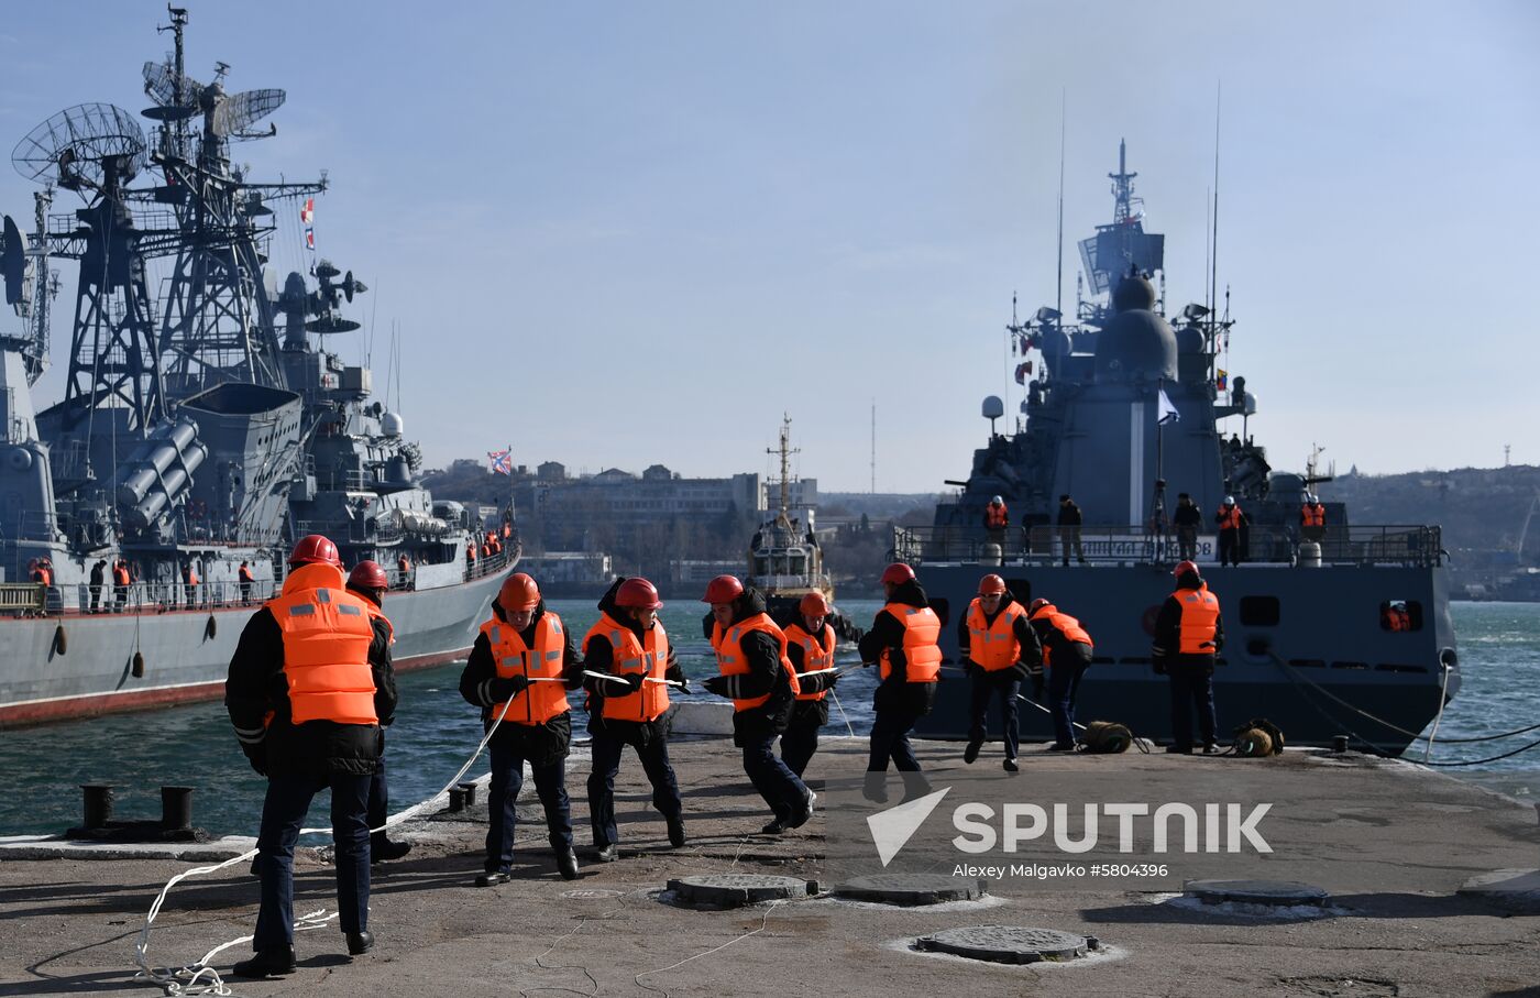
<path fill-rule="evenodd" d="M 782 624 L 796 618 L 798 605 L 808 593 L 822 593 L 830 605 L 829 625 L 842 642 L 861 639 L 861 628 L 835 607 L 835 584 L 824 571 L 824 548 L 818 544 L 813 510 L 792 507 L 792 417 L 782 416 L 781 444 L 767 450 L 781 457 L 781 477 L 772 485 L 779 488 L 776 513 L 759 525 L 748 544 L 750 585 L 765 596 L 770 616 Z M 793 513 L 798 513 L 793 516 Z"/>

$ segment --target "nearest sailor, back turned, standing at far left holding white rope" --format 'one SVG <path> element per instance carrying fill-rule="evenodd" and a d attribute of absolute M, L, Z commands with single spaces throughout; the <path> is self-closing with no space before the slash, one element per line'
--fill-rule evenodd
<path fill-rule="evenodd" d="M 300 538 L 282 593 L 246 621 L 229 659 L 225 707 L 240 750 L 268 778 L 257 833 L 256 956 L 233 972 L 294 972 L 294 842 L 311 798 L 326 787 L 342 932 L 348 953 L 370 952 L 370 778 L 380 758 L 380 721 L 396 710 L 396 679 L 383 618 L 343 587 L 337 545 L 326 538 Z"/>

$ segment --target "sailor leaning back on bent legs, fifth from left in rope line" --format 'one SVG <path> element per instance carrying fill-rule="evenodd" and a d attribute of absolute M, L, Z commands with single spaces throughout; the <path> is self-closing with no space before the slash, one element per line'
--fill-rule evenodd
<path fill-rule="evenodd" d="M 813 792 L 773 752 L 801 692 L 785 633 L 765 613 L 764 596 L 735 576 L 711 579 L 701 602 L 711 604 L 711 647 L 721 670 L 702 685 L 733 701 L 733 744 L 744 750 L 744 775 L 773 813 L 762 832 L 801 829 L 813 816 Z"/>

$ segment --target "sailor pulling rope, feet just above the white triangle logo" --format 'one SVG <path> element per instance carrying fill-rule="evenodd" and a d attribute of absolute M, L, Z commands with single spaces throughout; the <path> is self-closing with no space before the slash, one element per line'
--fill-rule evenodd
<path fill-rule="evenodd" d="M 881 681 L 872 695 L 872 755 L 867 773 L 886 773 L 889 759 L 901 773 L 918 773 L 919 761 L 909 745 L 915 722 L 930 713 L 941 678 L 941 618 L 930 608 L 915 570 L 893 562 L 882 571 L 884 605 L 861 636 L 861 661 L 879 665 Z M 867 796 L 882 801 L 884 792 L 867 781 Z"/>

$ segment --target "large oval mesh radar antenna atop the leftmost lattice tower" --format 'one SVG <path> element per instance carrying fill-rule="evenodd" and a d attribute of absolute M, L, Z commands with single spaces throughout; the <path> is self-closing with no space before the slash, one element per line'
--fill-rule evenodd
<path fill-rule="evenodd" d="M 108 103 L 60 111 L 11 152 L 17 172 L 28 180 L 69 189 L 100 186 L 108 160 L 116 160 L 117 180 L 129 180 L 145 168 L 145 132 L 132 114 Z"/>

